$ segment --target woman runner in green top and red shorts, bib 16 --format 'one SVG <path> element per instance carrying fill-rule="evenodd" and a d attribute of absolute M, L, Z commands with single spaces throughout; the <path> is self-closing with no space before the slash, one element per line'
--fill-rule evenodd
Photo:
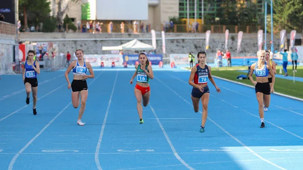
<path fill-rule="evenodd" d="M 135 87 L 135 96 L 137 99 L 137 110 L 140 118 L 139 124 L 143 124 L 142 118 L 142 104 L 141 101 L 143 99 L 143 106 L 146 107 L 149 102 L 150 96 L 150 87 L 149 80 L 154 79 L 153 68 L 149 66 L 149 61 L 145 53 L 141 52 L 139 54 L 139 62 L 140 64 L 135 65 L 136 71 L 132 78 L 130 79 L 130 84 L 133 83 L 133 79 L 137 75 L 137 84 Z"/>

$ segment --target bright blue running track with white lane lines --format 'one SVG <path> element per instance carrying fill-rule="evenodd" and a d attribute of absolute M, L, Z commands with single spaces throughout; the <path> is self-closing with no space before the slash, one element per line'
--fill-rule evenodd
<path fill-rule="evenodd" d="M 0 80 L 0 169 L 302 169 L 303 102 L 271 95 L 260 128 L 255 90 L 215 79 L 205 133 L 192 108 L 189 73 L 155 68 L 139 125 L 134 73 L 96 69 L 82 121 L 64 71 L 38 76 L 37 112 L 21 75 Z M 70 80 L 72 74 L 70 74 Z M 30 98 L 32 102 L 32 97 Z M 201 104 L 200 104 L 201 110 Z"/>

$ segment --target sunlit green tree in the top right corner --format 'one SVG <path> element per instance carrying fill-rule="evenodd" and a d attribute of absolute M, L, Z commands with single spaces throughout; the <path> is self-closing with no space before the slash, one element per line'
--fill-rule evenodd
<path fill-rule="evenodd" d="M 301 33 L 303 45 L 303 0 L 275 0 L 273 1 L 274 33 L 285 29 L 287 32 L 296 30 Z M 270 28 L 270 26 L 269 26 Z"/>

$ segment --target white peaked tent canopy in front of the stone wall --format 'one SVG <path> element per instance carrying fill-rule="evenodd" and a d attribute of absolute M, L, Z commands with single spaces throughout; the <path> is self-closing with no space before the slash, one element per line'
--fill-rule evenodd
<path fill-rule="evenodd" d="M 118 46 L 103 46 L 102 50 L 154 50 L 154 47 L 134 39 Z"/>

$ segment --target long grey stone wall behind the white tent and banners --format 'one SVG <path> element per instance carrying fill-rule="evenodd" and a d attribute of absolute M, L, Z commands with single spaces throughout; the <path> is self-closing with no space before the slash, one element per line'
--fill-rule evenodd
<path fill-rule="evenodd" d="M 267 49 L 270 49 L 270 34 L 267 34 Z M 197 53 L 205 50 L 205 34 L 200 33 L 166 33 L 166 56 L 169 53 Z M 53 41 L 58 43 L 59 51 L 73 52 L 75 49 L 83 49 L 86 54 L 108 54 L 111 51 L 103 51 L 102 46 L 117 46 L 126 43 L 132 39 L 151 44 L 150 34 L 119 34 L 119 33 L 22 33 L 21 41 Z M 161 33 L 156 33 L 157 49 L 156 53 L 162 53 Z M 300 38 L 300 37 L 298 37 Z M 229 34 L 228 49 L 232 56 L 256 56 L 258 50 L 257 34 L 243 34 L 240 53 L 237 50 L 237 34 Z M 279 37 L 274 37 L 274 49 L 279 48 Z M 217 49 L 224 49 L 225 34 L 211 34 L 210 48 L 207 51 L 211 59 Z M 123 51 L 128 53 L 131 51 Z"/>

